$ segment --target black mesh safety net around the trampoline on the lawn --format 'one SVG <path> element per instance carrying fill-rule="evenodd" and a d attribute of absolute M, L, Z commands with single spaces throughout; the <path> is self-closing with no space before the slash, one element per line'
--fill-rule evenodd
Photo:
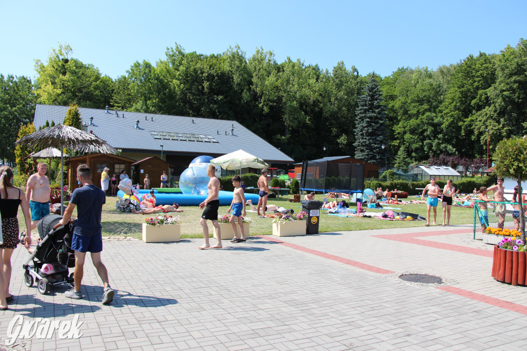
<path fill-rule="evenodd" d="M 300 190 L 362 193 L 364 191 L 364 163 L 304 161 Z"/>

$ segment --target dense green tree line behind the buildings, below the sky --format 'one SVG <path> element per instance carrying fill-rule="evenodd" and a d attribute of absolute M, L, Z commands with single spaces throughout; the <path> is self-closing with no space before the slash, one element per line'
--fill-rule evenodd
<path fill-rule="evenodd" d="M 69 45 L 54 49 L 46 63 L 36 60 L 35 70 L 34 85 L 26 77 L 1 76 L 3 126 L 18 130 L 30 121 L 35 101 L 100 109 L 109 105 L 236 120 L 296 161 L 364 154 L 369 147 L 376 150 L 371 161 L 384 165 L 387 159 L 403 167 L 440 154 L 486 159 L 487 138 L 492 154 L 500 140 L 527 131 L 523 39 L 500 53 L 470 55 L 437 70 L 399 67 L 385 77 L 362 76 L 344 62 L 331 71 L 289 57 L 278 63 L 263 48 L 251 56 L 238 46 L 202 55 L 187 53 L 178 44 L 155 64 L 137 61 L 115 80 L 73 58 Z M 372 81 L 379 87 L 384 107 L 378 111 L 383 111 L 386 128 L 377 128 L 378 138 L 369 134 L 367 140 L 364 135 L 357 140 L 364 129 L 356 128 L 357 121 L 363 122 L 357 119 L 359 99 Z M 3 157 L 13 141 L 2 140 Z M 379 151 L 380 144 L 386 148 Z M 390 155 L 397 157 L 391 160 Z"/>

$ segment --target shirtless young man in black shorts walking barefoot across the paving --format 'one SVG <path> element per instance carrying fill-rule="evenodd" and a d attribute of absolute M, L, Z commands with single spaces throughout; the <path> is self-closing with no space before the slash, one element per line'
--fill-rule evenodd
<path fill-rule="evenodd" d="M 201 245 L 198 249 L 221 249 L 221 231 L 220 231 L 220 225 L 218 223 L 218 208 L 220 207 L 220 200 L 218 197 L 218 194 L 220 192 L 220 180 L 214 176 L 214 173 L 216 172 L 216 167 L 214 167 L 212 164 L 207 167 L 207 176 L 210 178 L 208 188 L 209 188 L 209 196 L 205 201 L 201 202 L 199 204 L 199 208 L 205 210 L 201 214 L 200 224 L 203 228 L 203 236 L 205 237 L 205 243 Z M 209 243 L 209 227 L 207 226 L 207 220 L 212 221 L 212 225 L 214 228 L 216 228 L 217 233 L 217 242 L 216 245 L 210 246 Z"/>

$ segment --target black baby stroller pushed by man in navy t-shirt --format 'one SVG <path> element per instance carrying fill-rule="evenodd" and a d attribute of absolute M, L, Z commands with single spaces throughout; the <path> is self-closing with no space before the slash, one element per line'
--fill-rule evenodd
<path fill-rule="evenodd" d="M 75 267 L 75 253 L 71 249 L 74 222 L 54 229 L 62 219 L 58 214 L 49 214 L 37 224 L 38 242 L 24 268 L 24 282 L 32 287 L 37 281 L 38 292 L 45 295 L 50 286 L 69 284 L 74 287 L 73 273 L 69 275 L 68 268 Z"/>

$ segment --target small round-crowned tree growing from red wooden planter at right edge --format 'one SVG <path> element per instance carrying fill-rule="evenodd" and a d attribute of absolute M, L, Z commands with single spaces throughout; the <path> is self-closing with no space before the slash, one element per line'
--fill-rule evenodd
<path fill-rule="evenodd" d="M 502 177 L 512 177 L 518 181 L 519 204 L 522 208 L 522 186 L 523 180 L 527 180 L 527 139 L 504 139 L 497 144 L 494 152 L 496 162 L 496 173 Z M 520 211 L 520 232 L 525 242 L 525 216 Z"/>

